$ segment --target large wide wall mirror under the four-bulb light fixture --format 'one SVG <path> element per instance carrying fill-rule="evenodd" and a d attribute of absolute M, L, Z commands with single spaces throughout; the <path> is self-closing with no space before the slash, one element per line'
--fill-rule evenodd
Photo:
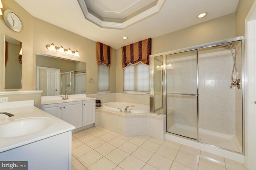
<path fill-rule="evenodd" d="M 36 89 L 42 96 L 86 94 L 86 63 L 37 53 Z"/>

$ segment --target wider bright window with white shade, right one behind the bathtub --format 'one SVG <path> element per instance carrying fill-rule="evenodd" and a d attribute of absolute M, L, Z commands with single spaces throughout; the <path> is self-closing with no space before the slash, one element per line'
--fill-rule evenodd
<path fill-rule="evenodd" d="M 149 92 L 149 66 L 142 63 L 124 68 L 124 92 Z"/>

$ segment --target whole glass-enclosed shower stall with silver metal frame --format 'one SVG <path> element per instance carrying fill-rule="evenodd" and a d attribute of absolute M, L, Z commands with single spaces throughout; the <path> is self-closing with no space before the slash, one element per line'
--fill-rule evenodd
<path fill-rule="evenodd" d="M 150 111 L 166 133 L 244 154 L 244 37 L 151 55 Z"/>

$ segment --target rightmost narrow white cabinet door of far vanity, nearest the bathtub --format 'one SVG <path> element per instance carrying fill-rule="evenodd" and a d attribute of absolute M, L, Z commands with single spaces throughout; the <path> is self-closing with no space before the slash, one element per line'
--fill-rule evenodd
<path fill-rule="evenodd" d="M 83 126 L 95 123 L 95 100 L 83 101 Z"/>

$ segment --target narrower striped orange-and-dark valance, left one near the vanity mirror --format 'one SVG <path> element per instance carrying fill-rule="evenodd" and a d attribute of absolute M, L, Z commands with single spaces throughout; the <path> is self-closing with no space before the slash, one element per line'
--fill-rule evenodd
<path fill-rule="evenodd" d="M 111 64 L 111 47 L 100 42 L 96 42 L 96 57 L 98 64 Z"/>

